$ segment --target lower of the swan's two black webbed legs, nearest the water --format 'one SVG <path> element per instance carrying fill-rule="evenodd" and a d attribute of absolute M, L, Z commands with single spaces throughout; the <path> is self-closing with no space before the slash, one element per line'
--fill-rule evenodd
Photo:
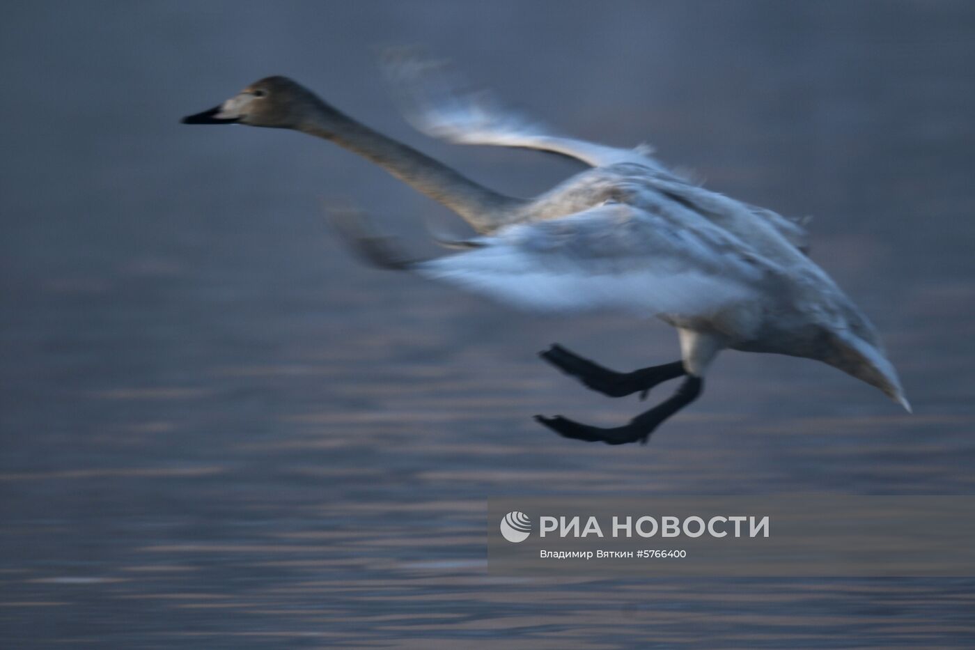
<path fill-rule="evenodd" d="M 607 445 L 622 445 L 639 440 L 641 444 L 646 444 L 647 438 L 656 427 L 659 427 L 663 421 L 697 399 L 703 388 L 703 379 L 688 375 L 673 395 L 649 411 L 637 416 L 623 427 L 590 427 L 562 416 L 554 418 L 535 416 L 535 421 L 551 428 L 559 435 L 575 440 L 604 442 Z"/>

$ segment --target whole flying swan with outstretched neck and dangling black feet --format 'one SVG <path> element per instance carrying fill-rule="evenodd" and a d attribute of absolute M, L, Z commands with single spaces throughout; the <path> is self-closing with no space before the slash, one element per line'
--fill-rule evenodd
<path fill-rule="evenodd" d="M 414 126 L 449 142 L 539 149 L 589 169 L 531 199 L 475 183 L 412 147 L 340 112 L 283 76 L 261 79 L 185 124 L 244 124 L 322 138 L 380 165 L 446 205 L 476 230 L 461 252 L 412 259 L 377 235 L 363 215 L 336 211 L 337 231 L 361 257 L 502 303 L 550 312 L 614 309 L 677 329 L 681 358 L 616 372 L 552 345 L 540 356 L 611 397 L 683 378 L 677 390 L 621 427 L 536 416 L 577 440 L 646 443 L 693 402 L 723 349 L 825 362 L 877 387 L 911 412 L 870 320 L 807 255 L 800 220 L 691 183 L 641 145 L 622 149 L 566 138 L 464 93 L 442 66 L 404 59 L 391 66 Z"/>

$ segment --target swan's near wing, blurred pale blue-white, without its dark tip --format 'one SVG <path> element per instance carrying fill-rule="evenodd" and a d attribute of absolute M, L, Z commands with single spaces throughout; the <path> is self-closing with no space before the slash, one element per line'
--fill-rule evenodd
<path fill-rule="evenodd" d="M 623 204 L 509 226 L 479 243 L 411 269 L 520 307 L 641 315 L 707 316 L 754 300 L 762 277 L 761 261 L 722 228 Z"/>

